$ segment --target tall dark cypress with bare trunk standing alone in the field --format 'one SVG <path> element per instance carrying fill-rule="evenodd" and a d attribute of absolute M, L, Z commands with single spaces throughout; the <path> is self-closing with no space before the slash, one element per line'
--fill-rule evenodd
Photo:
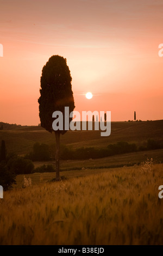
<path fill-rule="evenodd" d="M 65 120 L 65 107 L 69 107 L 69 112 L 74 109 L 74 99 L 71 86 L 72 77 L 70 70 L 67 66 L 67 61 L 64 57 L 54 55 L 49 58 L 48 62 L 42 69 L 41 75 L 41 89 L 39 102 L 39 116 L 41 126 L 49 132 L 53 132 L 52 123 L 54 118 L 52 114 L 54 111 L 60 111 L 63 114 L 63 121 Z M 72 118 L 67 117 L 69 123 Z M 56 118 L 55 118 L 56 119 Z M 59 173 L 59 154 L 60 154 L 60 134 L 64 135 L 65 122 L 63 130 L 57 130 L 55 132 L 56 139 L 56 180 L 60 180 Z"/>

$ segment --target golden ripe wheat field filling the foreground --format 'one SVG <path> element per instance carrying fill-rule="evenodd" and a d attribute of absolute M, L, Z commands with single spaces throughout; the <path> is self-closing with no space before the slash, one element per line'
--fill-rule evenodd
<path fill-rule="evenodd" d="M 163 164 L 26 183 L 0 199 L 0 245 L 163 244 Z"/>

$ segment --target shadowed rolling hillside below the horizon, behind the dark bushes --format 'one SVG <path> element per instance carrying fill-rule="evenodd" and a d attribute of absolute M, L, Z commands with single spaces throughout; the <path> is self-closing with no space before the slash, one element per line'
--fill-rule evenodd
<path fill-rule="evenodd" d="M 8 152 L 27 154 L 35 142 L 55 144 L 54 132 L 49 133 L 40 126 L 19 126 L 3 124 L 0 141 L 5 140 Z M 141 122 L 111 122 L 111 135 L 101 137 L 101 131 L 67 131 L 61 136 L 61 144 L 71 148 L 106 147 L 108 144 L 126 141 L 136 145 L 145 145 L 148 139 L 163 142 L 163 120 Z"/>

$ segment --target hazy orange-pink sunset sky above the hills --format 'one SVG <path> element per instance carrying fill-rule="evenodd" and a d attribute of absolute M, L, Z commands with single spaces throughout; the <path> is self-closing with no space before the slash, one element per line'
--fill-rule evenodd
<path fill-rule="evenodd" d="M 41 72 L 55 54 L 67 59 L 75 111 L 163 119 L 162 13 L 162 0 L 0 0 L 0 121 L 40 123 Z"/>

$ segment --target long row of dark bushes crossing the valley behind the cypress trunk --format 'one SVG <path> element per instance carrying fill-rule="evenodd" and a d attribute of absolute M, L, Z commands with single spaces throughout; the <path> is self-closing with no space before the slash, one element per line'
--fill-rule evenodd
<path fill-rule="evenodd" d="M 60 159 L 61 160 L 85 160 L 85 159 L 97 159 L 107 156 L 113 156 L 118 154 L 131 153 L 143 150 L 153 150 L 163 148 L 161 142 L 154 141 L 153 139 L 148 139 L 146 145 L 140 145 L 139 147 L 135 143 L 128 143 L 125 141 L 120 141 L 115 144 L 109 144 L 104 148 L 95 147 L 81 147 L 77 149 L 72 149 L 71 147 L 66 147 L 61 145 L 60 148 Z M 33 151 L 26 154 L 25 159 L 30 159 L 32 161 L 48 161 L 55 160 L 55 145 L 40 144 L 36 142 L 33 145 Z"/>

